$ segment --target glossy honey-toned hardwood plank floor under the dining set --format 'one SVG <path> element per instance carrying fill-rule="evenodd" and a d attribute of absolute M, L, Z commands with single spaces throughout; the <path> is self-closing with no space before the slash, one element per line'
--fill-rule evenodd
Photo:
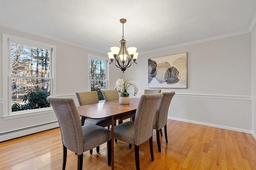
<path fill-rule="evenodd" d="M 168 144 L 161 137 L 158 152 L 153 133 L 154 161 L 148 141 L 140 145 L 142 170 L 256 170 L 256 140 L 251 134 L 168 120 Z M 134 170 L 134 146 L 114 144 L 116 170 Z M 0 170 L 60 170 L 62 141 L 60 129 L 20 137 L 0 143 Z M 77 155 L 68 150 L 66 170 L 77 169 Z M 110 170 L 106 144 L 100 153 L 84 152 L 83 169 Z"/>

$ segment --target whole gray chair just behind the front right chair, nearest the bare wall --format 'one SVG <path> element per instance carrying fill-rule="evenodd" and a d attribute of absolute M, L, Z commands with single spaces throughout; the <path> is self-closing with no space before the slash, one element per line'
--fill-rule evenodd
<path fill-rule="evenodd" d="M 175 92 L 163 92 L 163 96 L 158 104 L 158 107 L 156 109 L 156 116 L 154 119 L 154 129 L 156 129 L 156 140 L 157 140 L 157 146 L 158 151 L 161 152 L 161 143 L 160 143 L 160 133 L 162 134 L 162 128 L 164 127 L 164 135 L 165 135 L 165 141 L 168 143 L 167 139 L 167 115 L 170 103 L 172 101 L 173 96 L 175 95 Z"/>

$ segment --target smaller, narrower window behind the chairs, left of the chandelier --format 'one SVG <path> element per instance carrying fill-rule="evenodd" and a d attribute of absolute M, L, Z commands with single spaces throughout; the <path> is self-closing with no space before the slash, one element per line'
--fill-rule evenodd
<path fill-rule="evenodd" d="M 107 60 L 89 55 L 90 90 L 98 92 L 99 100 L 104 100 L 102 90 L 107 90 Z"/>

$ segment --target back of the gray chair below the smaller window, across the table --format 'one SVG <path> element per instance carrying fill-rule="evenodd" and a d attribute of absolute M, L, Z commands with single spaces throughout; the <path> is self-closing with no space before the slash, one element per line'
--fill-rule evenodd
<path fill-rule="evenodd" d="M 76 97 L 80 106 L 99 102 L 98 93 L 96 91 L 76 92 Z"/>

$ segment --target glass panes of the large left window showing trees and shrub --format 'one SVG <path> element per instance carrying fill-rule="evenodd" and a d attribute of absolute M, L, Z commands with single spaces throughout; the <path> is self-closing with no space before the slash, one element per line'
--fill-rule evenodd
<path fill-rule="evenodd" d="M 50 107 L 50 49 L 10 42 L 12 112 Z"/>

